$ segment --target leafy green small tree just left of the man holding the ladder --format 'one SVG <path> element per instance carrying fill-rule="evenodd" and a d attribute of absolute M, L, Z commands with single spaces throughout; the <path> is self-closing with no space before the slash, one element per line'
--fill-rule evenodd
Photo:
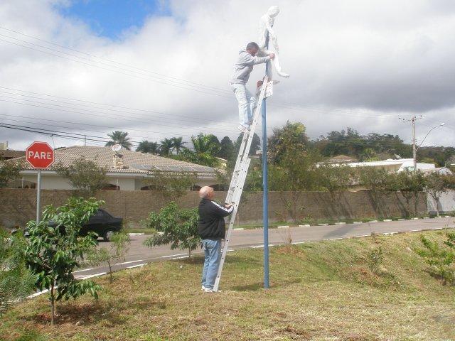
<path fill-rule="evenodd" d="M 171 244 L 172 250 L 188 250 L 191 259 L 191 251 L 200 246 L 197 209 L 180 209 L 172 201 L 159 213 L 150 212 L 147 225 L 158 232 L 146 239 L 147 247 Z"/>

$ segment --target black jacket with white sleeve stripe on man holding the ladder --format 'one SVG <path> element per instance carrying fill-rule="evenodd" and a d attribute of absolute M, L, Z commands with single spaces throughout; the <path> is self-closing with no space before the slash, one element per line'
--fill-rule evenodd
<path fill-rule="evenodd" d="M 226 226 L 224 217 L 232 213 L 234 207 L 226 208 L 204 198 L 199 202 L 199 236 L 202 239 L 224 239 Z"/>

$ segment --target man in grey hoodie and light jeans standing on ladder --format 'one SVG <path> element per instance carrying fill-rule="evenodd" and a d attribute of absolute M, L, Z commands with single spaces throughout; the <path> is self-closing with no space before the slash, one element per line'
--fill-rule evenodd
<path fill-rule="evenodd" d="M 246 50 L 240 50 L 237 63 L 234 65 L 234 75 L 230 81 L 230 86 L 235 93 L 235 98 L 239 103 L 238 129 L 243 133 L 250 130 L 252 124 L 252 114 L 256 107 L 256 97 L 247 90 L 246 84 L 253 70 L 253 65 L 267 63 L 275 57 L 274 53 L 269 53 L 265 57 L 256 57 L 259 50 L 257 43 L 248 43 Z"/>

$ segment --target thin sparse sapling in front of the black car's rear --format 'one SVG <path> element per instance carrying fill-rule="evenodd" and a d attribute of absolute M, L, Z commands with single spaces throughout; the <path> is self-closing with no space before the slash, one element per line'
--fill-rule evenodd
<path fill-rule="evenodd" d="M 124 232 L 116 232 L 109 239 L 109 247 L 101 247 L 100 249 L 92 249 L 87 254 L 89 264 L 99 266 L 107 264 L 109 267 L 109 281 L 112 282 L 112 263 L 119 259 L 125 258 L 127 254 L 130 239 L 129 235 Z"/>

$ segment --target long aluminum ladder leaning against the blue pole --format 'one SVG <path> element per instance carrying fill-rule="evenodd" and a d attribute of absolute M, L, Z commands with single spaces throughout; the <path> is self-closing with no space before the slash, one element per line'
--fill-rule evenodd
<path fill-rule="evenodd" d="M 228 252 L 230 235 L 232 234 L 232 229 L 234 228 L 235 217 L 237 216 L 237 209 L 240 203 L 240 197 L 242 197 L 243 185 L 245 185 L 245 179 L 247 178 L 248 168 L 250 167 L 251 159 L 248 157 L 250 154 L 251 143 L 253 136 L 255 136 L 255 129 L 257 126 L 257 121 L 261 115 L 262 100 L 266 97 L 266 90 L 268 84 L 268 77 L 265 76 L 262 80 L 262 87 L 260 89 L 257 99 L 257 107 L 255 109 L 255 114 L 253 116 L 253 121 L 250 126 L 250 131 L 248 133 L 243 133 L 242 144 L 240 145 L 239 154 L 237 156 L 237 161 L 235 161 L 234 172 L 232 173 L 232 178 L 230 180 L 228 195 L 226 196 L 225 202 L 232 205 L 234 210 L 229 217 L 228 232 L 225 236 L 225 242 L 223 244 L 223 251 L 221 251 L 221 261 L 220 266 L 218 267 L 218 274 L 215 279 L 215 285 L 213 286 L 213 291 L 218 291 L 218 286 L 220 285 L 221 274 L 223 272 L 223 265 L 225 264 L 226 254 Z"/>

